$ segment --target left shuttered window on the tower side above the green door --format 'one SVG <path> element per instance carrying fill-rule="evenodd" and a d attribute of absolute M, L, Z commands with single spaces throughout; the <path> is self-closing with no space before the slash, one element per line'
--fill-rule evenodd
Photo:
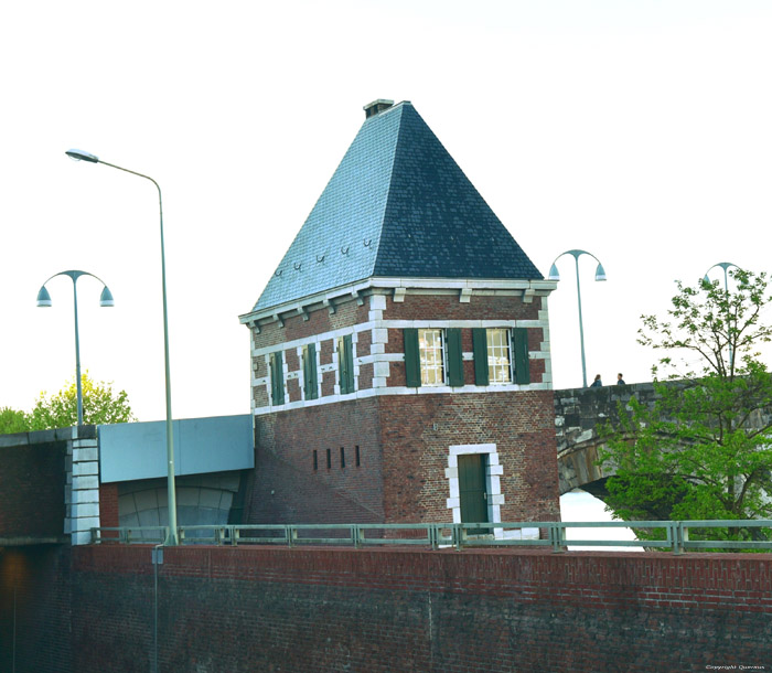
<path fill-rule="evenodd" d="M 408 387 L 463 385 L 460 329 L 408 328 L 403 334 Z"/>

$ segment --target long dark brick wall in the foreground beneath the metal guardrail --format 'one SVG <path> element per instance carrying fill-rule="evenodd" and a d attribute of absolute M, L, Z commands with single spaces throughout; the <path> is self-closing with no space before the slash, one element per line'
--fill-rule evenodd
<path fill-rule="evenodd" d="M 55 670 L 149 671 L 150 548 L 73 553 L 72 669 Z M 158 585 L 160 670 L 769 666 L 771 562 L 733 554 L 168 548 Z"/>

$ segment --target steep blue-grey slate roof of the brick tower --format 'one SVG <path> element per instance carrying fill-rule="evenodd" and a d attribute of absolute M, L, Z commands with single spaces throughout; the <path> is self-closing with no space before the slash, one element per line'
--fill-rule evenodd
<path fill-rule="evenodd" d="M 544 278 L 409 102 L 365 120 L 253 310 L 373 276 Z"/>

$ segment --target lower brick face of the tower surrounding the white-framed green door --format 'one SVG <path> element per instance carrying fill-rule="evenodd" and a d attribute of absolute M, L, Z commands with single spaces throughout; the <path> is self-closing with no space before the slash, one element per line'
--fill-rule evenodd
<path fill-rule="evenodd" d="M 551 391 L 378 398 L 385 521 L 450 522 L 449 447 L 495 444 L 503 466 L 501 521 L 555 521 Z"/>

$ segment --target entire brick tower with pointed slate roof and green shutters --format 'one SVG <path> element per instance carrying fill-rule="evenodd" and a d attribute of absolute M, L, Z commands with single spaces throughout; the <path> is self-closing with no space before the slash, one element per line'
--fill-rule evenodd
<path fill-rule="evenodd" d="M 376 100 L 254 309 L 245 523 L 559 517 L 544 280 Z"/>

